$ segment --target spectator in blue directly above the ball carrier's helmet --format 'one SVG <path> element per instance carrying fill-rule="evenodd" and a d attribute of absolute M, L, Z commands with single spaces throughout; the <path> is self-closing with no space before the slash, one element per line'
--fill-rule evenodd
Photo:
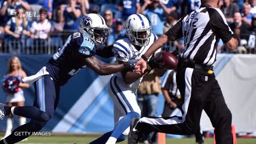
<path fill-rule="evenodd" d="M 126 20 L 130 15 L 140 12 L 140 0 L 120 1 L 117 6 L 119 11 L 123 10 L 122 18 Z"/>

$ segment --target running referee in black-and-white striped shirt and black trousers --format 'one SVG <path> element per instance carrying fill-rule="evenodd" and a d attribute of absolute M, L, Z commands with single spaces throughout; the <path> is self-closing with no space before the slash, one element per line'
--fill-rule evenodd
<path fill-rule="evenodd" d="M 151 131 L 171 134 L 193 134 L 199 127 L 203 109 L 215 127 L 217 144 L 232 144 L 231 113 L 212 71 L 217 44 L 221 38 L 227 49 L 236 49 L 239 37 L 230 30 L 219 0 L 201 0 L 198 10 L 182 17 L 176 25 L 150 46 L 135 66 L 138 73 L 147 68 L 149 55 L 168 41 L 185 39 L 185 50 L 180 54 L 176 82 L 182 95 L 182 117 L 133 119 L 128 143 L 137 143 L 144 133 Z"/>

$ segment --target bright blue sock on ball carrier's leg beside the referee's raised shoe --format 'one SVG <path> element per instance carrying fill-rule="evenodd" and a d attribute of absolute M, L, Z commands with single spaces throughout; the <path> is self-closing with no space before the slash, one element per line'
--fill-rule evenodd
<path fill-rule="evenodd" d="M 139 117 L 140 115 L 134 111 L 127 113 L 122 119 L 119 120 L 115 129 L 110 137 L 119 138 L 120 135 L 131 125 L 132 118 Z"/>

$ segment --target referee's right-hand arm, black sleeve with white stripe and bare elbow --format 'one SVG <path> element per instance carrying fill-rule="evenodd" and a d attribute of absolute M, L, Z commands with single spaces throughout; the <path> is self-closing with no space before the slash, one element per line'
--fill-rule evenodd
<path fill-rule="evenodd" d="M 209 9 L 209 15 L 213 32 L 222 39 L 227 49 L 236 50 L 240 38 L 231 31 L 223 13 L 219 9 Z"/>

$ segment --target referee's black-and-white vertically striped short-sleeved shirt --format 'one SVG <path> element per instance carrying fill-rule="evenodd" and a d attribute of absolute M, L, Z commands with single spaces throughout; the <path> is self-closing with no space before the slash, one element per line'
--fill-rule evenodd
<path fill-rule="evenodd" d="M 227 43 L 233 31 L 220 9 L 202 4 L 200 9 L 181 18 L 165 34 L 171 41 L 184 37 L 182 58 L 211 66 L 216 60 L 219 39 Z"/>

